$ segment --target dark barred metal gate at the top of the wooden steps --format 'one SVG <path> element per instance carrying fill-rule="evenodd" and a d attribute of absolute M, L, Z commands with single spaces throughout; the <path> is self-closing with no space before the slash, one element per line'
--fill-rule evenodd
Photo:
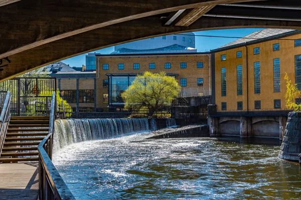
<path fill-rule="evenodd" d="M 48 116 L 55 90 L 56 78 L 12 78 L 0 83 L 0 91 L 11 91 L 11 114 L 18 116 Z"/>

